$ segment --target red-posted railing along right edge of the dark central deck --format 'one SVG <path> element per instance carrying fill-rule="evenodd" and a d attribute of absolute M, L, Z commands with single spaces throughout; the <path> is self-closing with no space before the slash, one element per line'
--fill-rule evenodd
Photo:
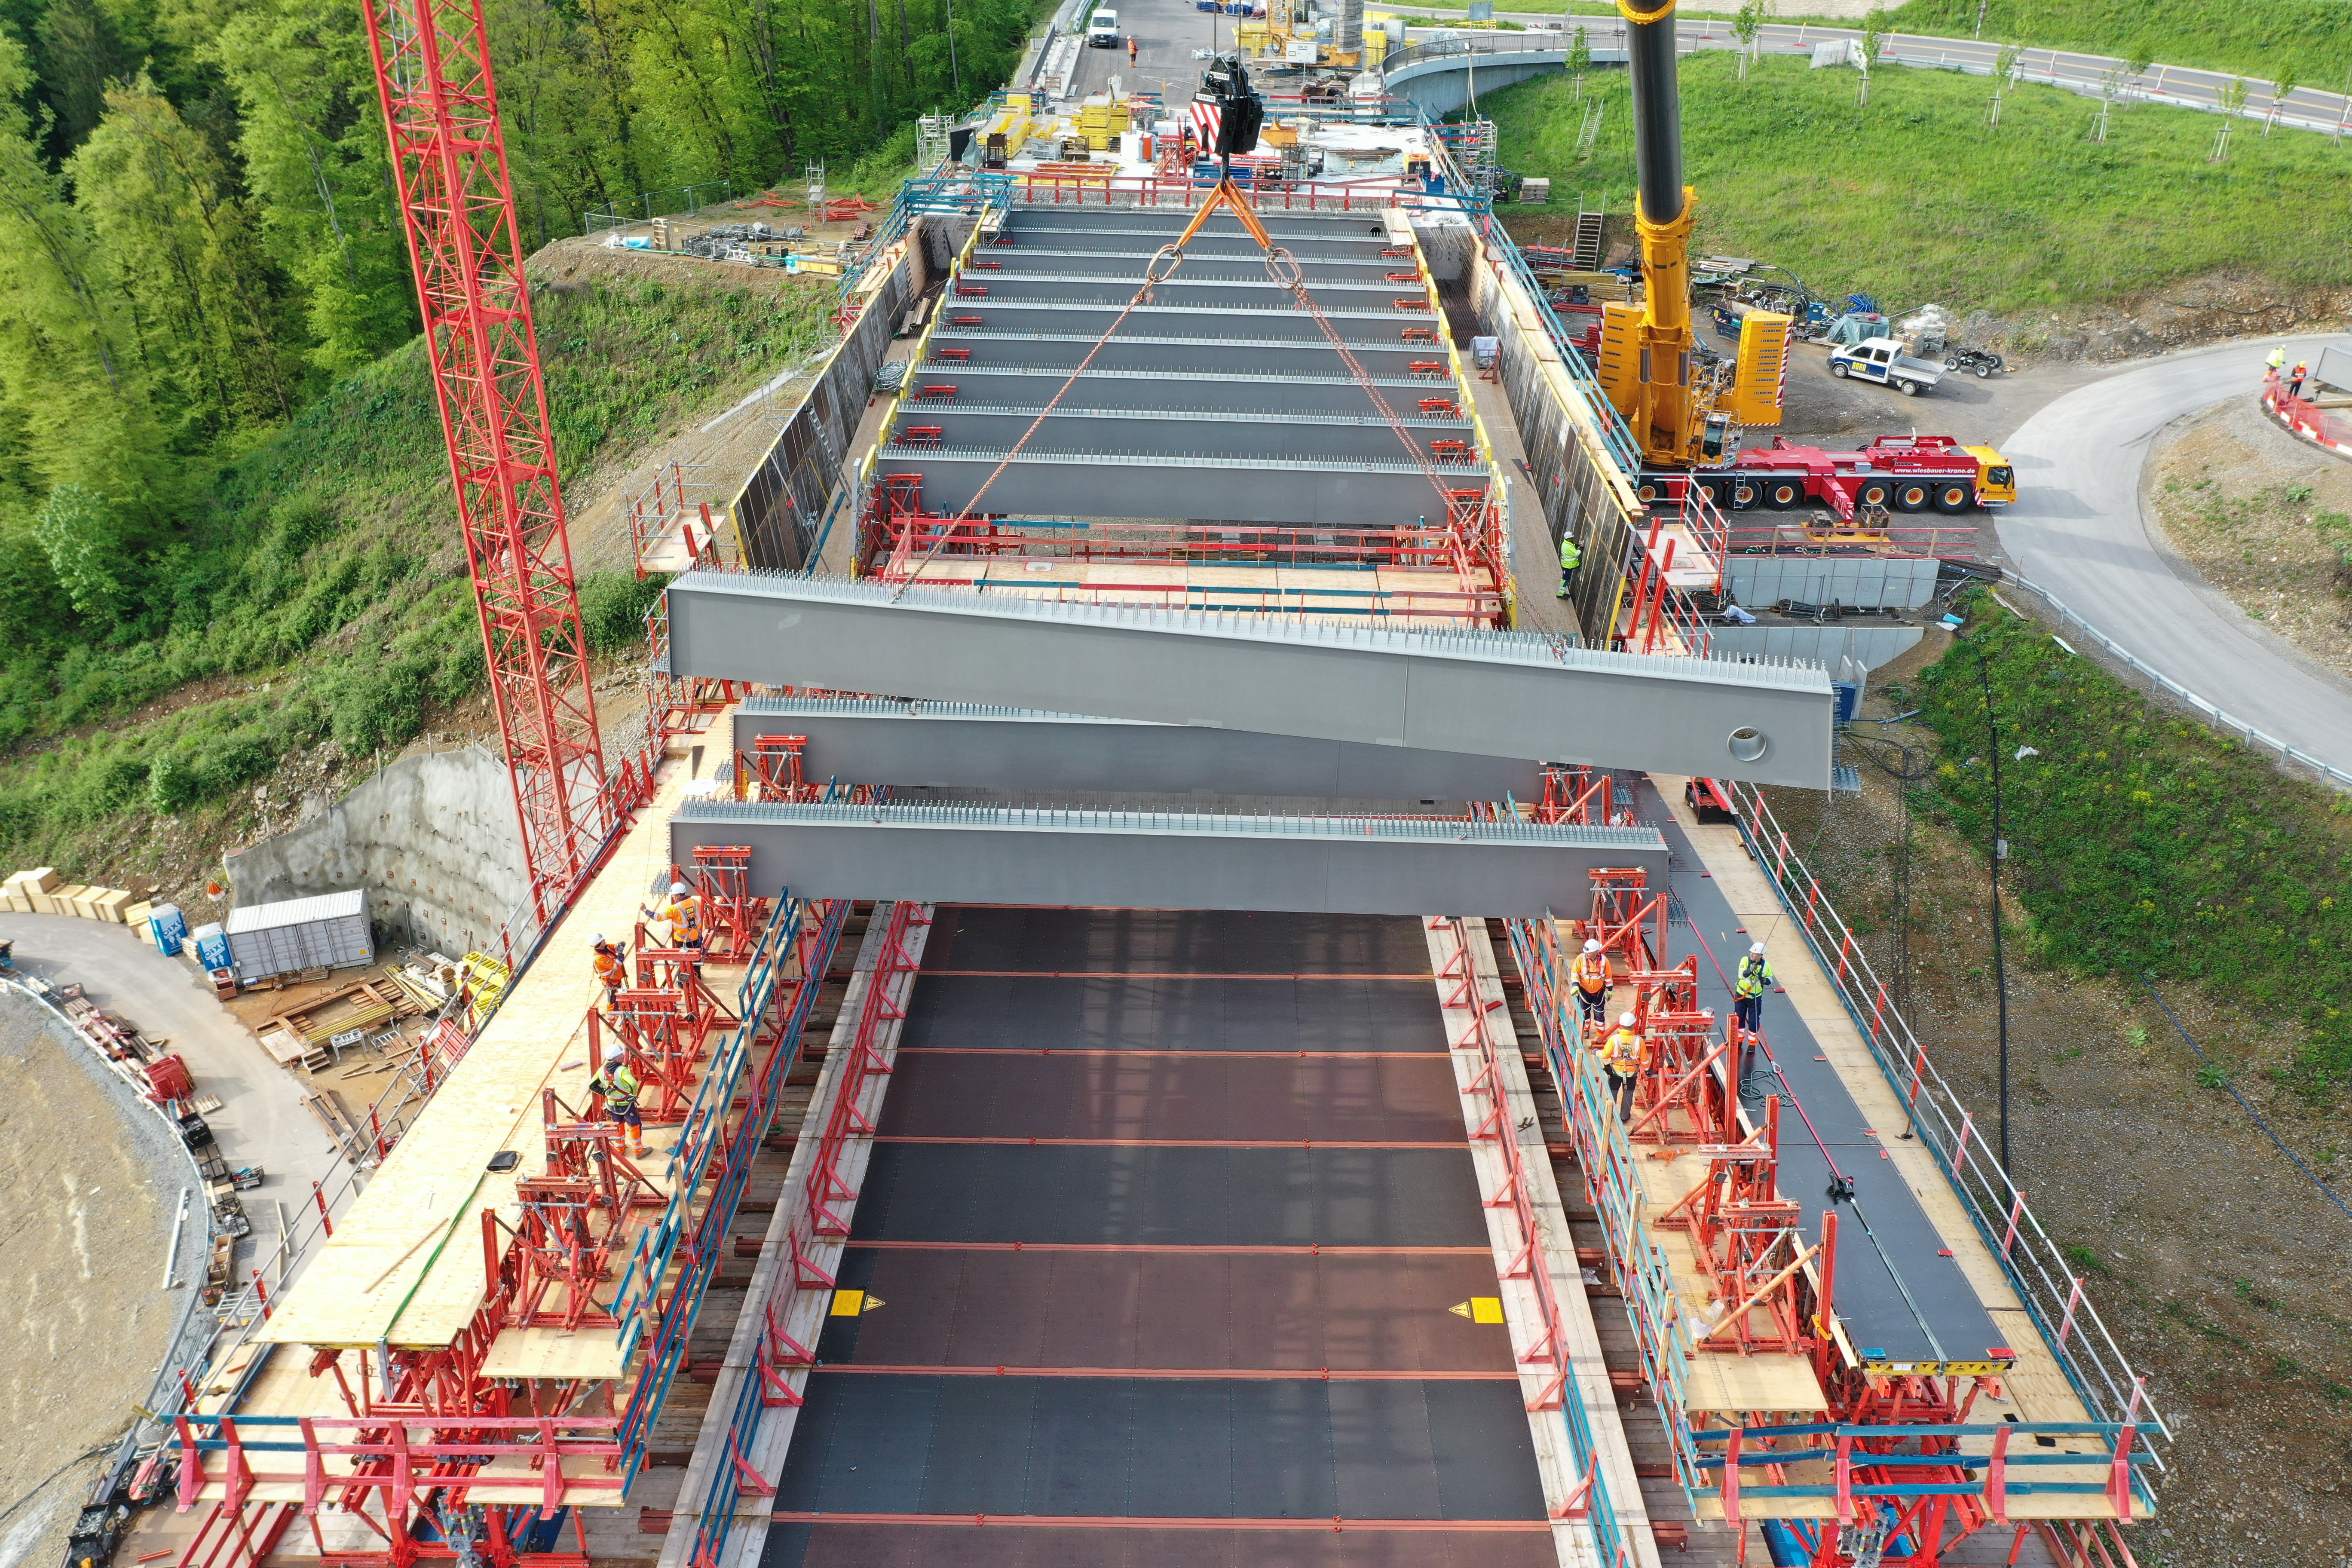
<path fill-rule="evenodd" d="M 1505 1182 L 1503 1190 L 1486 1194 L 1489 1208 L 1505 1206 L 1519 1227 L 1517 1255 L 1505 1269 L 1505 1279 L 1524 1279 L 1536 1293 L 1536 1312 L 1541 1316 L 1536 1342 L 1519 1354 L 1519 1366 L 1543 1363 L 1548 1366 L 1543 1389 L 1529 1401 L 1529 1410 L 1550 1410 L 1555 1403 L 1559 1408 L 1559 1420 L 1569 1434 L 1569 1453 L 1576 1458 L 1576 1476 L 1571 1476 L 1571 1490 L 1555 1519 L 1585 1523 L 1592 1530 L 1595 1544 L 1599 1547 L 1599 1561 L 1621 1568 L 1630 1561 L 1625 1530 L 1618 1523 L 1616 1507 L 1609 1500 L 1609 1481 L 1599 1469 L 1599 1441 L 1592 1434 L 1592 1418 L 1585 1410 L 1583 1389 L 1576 1382 L 1576 1361 L 1569 1354 L 1566 1319 L 1559 1309 L 1559 1291 L 1552 1284 L 1550 1262 L 1543 1255 L 1543 1229 L 1536 1222 L 1536 1185 L 1529 1175 L 1526 1147 L 1519 1143 L 1517 1126 L 1512 1124 L 1510 1093 L 1505 1084 L 1510 1081 L 1503 1070 L 1503 1053 L 1519 1053 L 1519 1037 L 1510 1027 L 1510 1016 L 1496 1018 L 1496 1009 L 1479 994 L 1479 971 L 1470 950 L 1470 926 L 1461 917 L 1442 917 L 1430 922 L 1432 931 L 1444 931 L 1454 940 L 1454 957 L 1439 964 L 1437 983 L 1444 987 L 1451 983 L 1451 992 L 1444 997 L 1446 1006 L 1461 1006 L 1470 1013 L 1468 1034 L 1475 1034 L 1479 1051 L 1479 1072 L 1463 1093 L 1482 1095 L 1486 1100 L 1486 1119 L 1472 1133 L 1477 1143 L 1491 1145 L 1496 1157 L 1503 1161 Z M 1501 1039 L 1498 1039 L 1501 1037 Z M 1451 1046 L 1456 1051 L 1470 1046 L 1470 1039 L 1456 1039 Z M 1541 1138 L 1536 1140 L 1541 1150 Z M 1573 1260 L 1571 1260 L 1573 1262 Z"/>

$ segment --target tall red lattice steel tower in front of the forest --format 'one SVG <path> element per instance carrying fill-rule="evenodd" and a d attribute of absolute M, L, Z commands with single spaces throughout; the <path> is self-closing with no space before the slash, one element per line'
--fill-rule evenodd
<path fill-rule="evenodd" d="M 489 693 L 541 919 L 604 778 L 588 639 L 480 0 L 367 0 L 367 49 L 433 357 Z"/>

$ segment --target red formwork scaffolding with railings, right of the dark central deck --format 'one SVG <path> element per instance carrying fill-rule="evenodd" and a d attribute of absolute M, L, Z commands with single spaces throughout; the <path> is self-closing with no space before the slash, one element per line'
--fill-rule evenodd
<path fill-rule="evenodd" d="M 1606 811 L 1606 778 L 1559 769 L 1548 780 L 1545 811 L 1555 820 L 1597 820 Z M 1743 792 L 1748 816 L 1769 820 L 1762 797 Z M 1882 1051 L 1893 1077 L 1912 1072 L 1910 1103 L 1922 1124 L 1936 1114 L 1945 1124 L 1952 1154 L 1945 1168 L 1971 1201 L 1980 1234 L 1994 1248 L 2039 1319 L 2058 1324 L 2056 1352 L 2067 1378 L 2103 1420 L 2091 1422 L 1969 1422 L 1978 1394 L 1997 1387 L 2006 1363 L 1943 1375 L 1905 1375 L 1865 1368 L 1835 1328 L 1832 1284 L 1837 1279 L 1835 1201 L 1820 1215 L 1818 1241 L 1804 1246 L 1802 1204 L 1780 1187 L 1780 1095 L 1745 1110 L 1738 1100 L 1736 1056 L 1762 1037 L 1726 1020 L 1712 1032 L 1712 1013 L 1696 1006 L 1696 954 L 1670 961 L 1665 938 L 1668 898 L 1653 893 L 1642 872 L 1595 872 L 1592 914 L 1585 922 L 1508 922 L 1512 959 L 1524 999 L 1543 1037 L 1543 1053 L 1562 1091 L 1566 1131 L 1602 1232 L 1609 1267 L 1625 1300 L 1658 1413 L 1672 1443 L 1677 1476 L 1693 1507 L 1705 1500 L 1722 1519 L 1764 1516 L 1788 1521 L 1788 1542 L 1811 1568 L 1907 1561 L 1936 1568 L 1978 1530 L 2042 1530 L 2065 1563 L 2131 1563 L 2117 1526 L 2145 1507 L 2147 1483 L 2136 1467 L 2154 1460 L 2150 1436 L 2161 1434 L 2140 1382 L 2122 1368 L 2105 1328 L 2100 1345 L 2079 1331 L 2096 1324 L 2077 1288 L 2072 1295 L 2034 1288 L 2046 1276 L 2030 1260 L 2027 1237 L 2039 1227 L 2023 1197 L 1973 1192 L 1964 1180 L 1971 1154 L 1985 1166 L 1980 1138 L 1971 1145 L 1966 1114 L 1933 1105 L 1940 1079 L 1924 1051 L 1886 1004 L 1884 987 L 1865 978 L 1865 964 L 1785 835 L 1755 837 L 1759 863 L 1773 875 L 1797 912 L 1825 969 L 1867 1032 L 1872 1048 L 1900 1032 L 1903 1053 Z M 1653 1046 L 1639 1079 L 1635 1114 L 1618 1117 L 1613 1091 L 1602 1077 L 1590 1039 L 1578 1030 L 1571 999 L 1566 947 L 1585 936 L 1611 952 L 1618 985 L 1635 992 L 1635 1016 Z M 1947 1093 L 1947 1091 L 1945 1091 Z M 1802 1117 L 1804 1110 L 1797 1107 Z M 1670 1161 L 1670 1164 L 1661 1164 Z M 1835 1175 L 1835 1164 L 1832 1164 Z M 1978 1173 L 1978 1185 L 1999 1180 Z M 1653 1194 L 1653 1182 L 1672 1182 L 1679 1201 Z M 2002 1208 L 2006 1204 L 2006 1208 Z M 2006 1232 L 1994 1225 L 2006 1220 Z M 1668 1244 L 1686 1248 L 1672 1265 Z M 2051 1248 L 2056 1255 L 2056 1248 Z M 1696 1269 L 1705 1300 L 1689 1300 L 1686 1269 Z M 2063 1298 L 2063 1300 L 2060 1300 Z M 2074 1342 L 2070 1347 L 2067 1335 Z M 1773 1413 L 1738 1413 L 1729 1427 L 1693 1427 L 1686 1410 L 1689 1378 L 1698 1356 L 1759 1354 L 1797 1356 L 1813 1368 L 1825 1396 L 1823 1420 L 1792 1422 Z M 2119 1371 L 2122 1368 L 2122 1371 Z M 2114 1399 L 2096 1399 L 2105 1385 Z M 1705 1408 L 1705 1406 L 1696 1406 Z M 2060 1446 L 2051 1453 L 2049 1446 Z M 2058 1469 L 2051 1469 L 2058 1467 Z M 1762 1469 L 1766 1481 L 1743 1481 Z M 2016 1521 L 2030 1509 L 2020 1497 L 2079 1495 L 2065 1512 L 2100 1516 Z M 1802 1502 L 1799 1502 L 1802 1500 Z M 1773 1561 L 1783 1559 L 1776 1549 Z M 2011 1561 L 2013 1554 L 2011 1554 Z"/>

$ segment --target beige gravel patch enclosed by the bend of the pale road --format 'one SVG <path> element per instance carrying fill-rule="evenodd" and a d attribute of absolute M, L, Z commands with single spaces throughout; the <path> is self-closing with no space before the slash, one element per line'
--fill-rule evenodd
<path fill-rule="evenodd" d="M 2352 463 L 2279 430 L 2251 397 L 2180 421 L 2150 461 L 2166 543 L 2312 661 L 2352 675 Z"/>

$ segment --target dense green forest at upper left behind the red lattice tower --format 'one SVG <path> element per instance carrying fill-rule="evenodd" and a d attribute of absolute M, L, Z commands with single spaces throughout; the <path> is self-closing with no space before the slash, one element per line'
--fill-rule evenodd
<path fill-rule="evenodd" d="M 903 160 L 1030 14 L 485 0 L 524 247 L 647 190 Z M 0 0 L 7 708 L 66 649 L 202 635 L 270 529 L 240 463 L 414 334 L 355 0 Z"/>

